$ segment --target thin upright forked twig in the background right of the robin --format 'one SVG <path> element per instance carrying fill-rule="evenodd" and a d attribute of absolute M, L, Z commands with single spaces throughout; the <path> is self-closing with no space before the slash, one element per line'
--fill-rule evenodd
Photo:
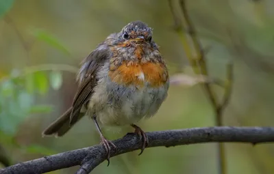
<path fill-rule="evenodd" d="M 175 19 L 175 23 L 177 23 L 179 16 L 175 13 L 175 10 L 172 6 L 172 0 L 169 1 L 171 12 L 173 14 L 173 17 Z M 182 44 L 184 46 L 184 50 L 186 53 L 186 57 L 188 57 L 188 61 L 190 62 L 190 65 L 192 66 L 192 70 L 196 74 L 202 74 L 203 76 L 209 76 L 208 74 L 208 68 L 206 65 L 206 53 L 205 50 L 202 48 L 201 43 L 199 42 L 199 38 L 197 37 L 197 32 L 195 30 L 194 25 L 192 24 L 192 21 L 190 20 L 190 16 L 188 14 L 188 9 L 186 8 L 186 0 L 180 0 L 179 6 L 181 8 L 183 18 L 182 18 L 182 26 L 184 27 L 185 31 L 183 29 L 178 30 L 179 37 L 182 40 Z M 188 36 L 190 40 L 188 40 Z M 191 43 L 190 43 L 191 42 Z M 195 56 L 192 53 L 192 50 L 195 52 Z M 210 99 L 210 102 L 212 103 L 212 106 L 215 111 L 215 122 L 216 126 L 222 126 L 222 117 L 223 117 L 223 111 L 225 107 L 227 106 L 229 102 L 229 98 L 231 96 L 232 91 L 232 83 L 233 83 L 233 66 L 232 63 L 229 63 L 227 66 L 227 81 L 225 83 L 224 87 L 224 94 L 223 94 L 223 100 L 221 103 L 218 102 L 216 98 L 216 94 L 212 90 L 212 87 L 209 83 L 203 83 L 206 93 L 208 94 L 208 98 Z M 226 162 L 225 162 L 225 148 L 224 145 L 219 143 L 218 145 L 218 158 L 219 158 L 219 173 L 225 174 L 227 173 L 226 169 Z"/>

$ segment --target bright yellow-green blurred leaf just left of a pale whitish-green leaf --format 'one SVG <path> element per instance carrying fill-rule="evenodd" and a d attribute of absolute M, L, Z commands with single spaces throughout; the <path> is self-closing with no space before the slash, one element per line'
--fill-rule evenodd
<path fill-rule="evenodd" d="M 47 93 L 49 83 L 47 81 L 47 74 L 45 72 L 36 72 L 34 74 L 34 82 L 40 94 Z"/>

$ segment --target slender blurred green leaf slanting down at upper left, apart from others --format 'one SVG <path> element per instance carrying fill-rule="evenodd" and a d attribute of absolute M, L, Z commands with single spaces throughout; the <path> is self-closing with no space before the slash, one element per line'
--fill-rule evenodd
<path fill-rule="evenodd" d="M 69 50 L 67 50 L 63 44 L 60 43 L 60 41 L 58 41 L 57 38 L 53 37 L 52 35 L 50 35 L 49 33 L 47 33 L 46 31 L 42 31 L 42 30 L 36 30 L 34 32 L 35 37 L 38 40 L 41 40 L 43 42 L 46 42 L 47 44 L 49 44 L 50 46 L 53 46 L 53 48 L 57 48 L 58 50 L 61 50 L 63 53 L 66 54 L 70 54 Z"/>

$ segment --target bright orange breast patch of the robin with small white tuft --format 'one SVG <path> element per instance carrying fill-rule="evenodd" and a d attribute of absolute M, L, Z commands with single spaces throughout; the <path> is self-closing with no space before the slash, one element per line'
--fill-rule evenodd
<path fill-rule="evenodd" d="M 166 83 L 168 73 L 161 63 L 123 63 L 109 72 L 110 79 L 121 85 L 143 87 L 148 82 L 151 87 L 159 87 Z"/>

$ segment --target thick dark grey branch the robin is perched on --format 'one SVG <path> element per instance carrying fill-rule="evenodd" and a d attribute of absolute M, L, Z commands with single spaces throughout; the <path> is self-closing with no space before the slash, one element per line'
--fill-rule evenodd
<path fill-rule="evenodd" d="M 166 130 L 147 132 L 149 147 L 175 145 L 188 145 L 195 143 L 212 142 L 239 142 L 239 143 L 269 143 L 274 142 L 274 127 L 212 127 L 190 128 L 184 130 Z M 113 141 L 116 151 L 111 151 L 111 156 L 125 154 L 129 151 L 140 149 L 142 143 L 136 134 L 127 134 L 122 139 Z M 106 158 L 102 145 L 94 145 L 83 149 L 66 151 L 53 156 L 38 158 L 9 166 L 0 173 L 46 173 L 70 166 L 81 165 L 77 173 L 90 173 Z M 140 156 L 140 158 L 142 158 Z"/>

